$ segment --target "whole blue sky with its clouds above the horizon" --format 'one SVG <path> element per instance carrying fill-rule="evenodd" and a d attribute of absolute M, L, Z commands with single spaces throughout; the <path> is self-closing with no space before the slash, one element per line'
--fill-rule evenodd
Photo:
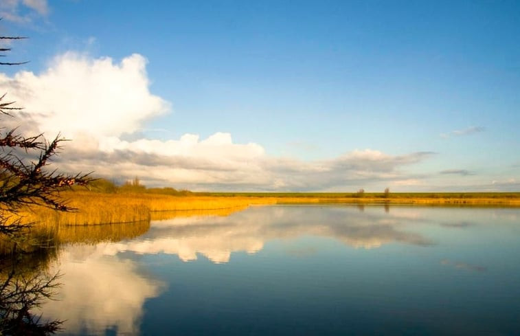
<path fill-rule="evenodd" d="M 223 191 L 520 191 L 518 1 L 2 0 L 52 168 Z M 3 42 L 5 45 L 5 41 Z"/>

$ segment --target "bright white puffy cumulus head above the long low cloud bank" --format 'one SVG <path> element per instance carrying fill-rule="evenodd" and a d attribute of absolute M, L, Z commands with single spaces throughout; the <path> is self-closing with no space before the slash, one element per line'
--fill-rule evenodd
<path fill-rule="evenodd" d="M 69 52 L 54 58 L 42 74 L 0 76 L 2 91 L 23 104 L 40 131 L 72 139 L 118 137 L 166 113 L 168 104 L 152 95 L 148 85 L 146 59 L 138 54 L 117 64 Z"/>

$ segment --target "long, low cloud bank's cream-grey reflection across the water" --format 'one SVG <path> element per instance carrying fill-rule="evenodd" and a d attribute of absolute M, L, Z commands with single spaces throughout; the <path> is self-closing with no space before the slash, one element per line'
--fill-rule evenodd
<path fill-rule="evenodd" d="M 213 262 L 228 262 L 231 252 L 256 253 L 272 239 L 323 236 L 356 248 L 370 249 L 400 242 L 427 246 L 431 241 L 399 229 L 415 214 L 357 212 L 354 207 L 323 209 L 306 207 L 253 207 L 229 217 L 176 218 L 152 223 L 142 240 L 107 245 L 106 254 L 133 251 L 138 254 L 177 254 L 195 260 L 202 254 Z M 382 208 L 381 208 L 382 209 Z M 378 209 L 378 210 L 381 210 Z M 294 219 L 298 219 L 297 222 Z"/>

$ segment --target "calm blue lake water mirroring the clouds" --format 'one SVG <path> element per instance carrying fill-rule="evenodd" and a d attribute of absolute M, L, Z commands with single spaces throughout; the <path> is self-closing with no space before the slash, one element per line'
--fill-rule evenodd
<path fill-rule="evenodd" d="M 515 209 L 253 207 L 52 268 L 65 335 L 520 335 Z"/>

